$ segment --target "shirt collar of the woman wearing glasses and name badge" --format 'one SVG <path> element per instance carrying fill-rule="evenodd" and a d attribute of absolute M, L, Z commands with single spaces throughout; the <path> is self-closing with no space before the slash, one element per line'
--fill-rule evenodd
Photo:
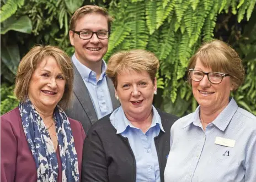
<path fill-rule="evenodd" d="M 236 113 L 238 109 L 236 101 L 234 101 L 233 98 L 230 98 L 230 102 L 228 105 L 223 109 L 223 111 L 218 114 L 217 118 L 212 122 L 218 129 L 221 131 L 224 131 L 227 128 L 227 125 L 230 123 L 234 113 Z M 183 126 L 185 128 L 186 126 L 190 125 L 193 123 L 195 126 L 201 125 L 201 120 L 199 117 L 199 112 L 200 112 L 200 106 L 196 108 L 195 112 L 192 114 L 191 119 L 188 120 Z"/>

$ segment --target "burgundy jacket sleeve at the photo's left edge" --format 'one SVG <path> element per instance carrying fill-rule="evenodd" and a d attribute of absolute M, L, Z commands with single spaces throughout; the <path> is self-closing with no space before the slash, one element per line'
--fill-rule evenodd
<path fill-rule="evenodd" d="M 17 137 L 10 122 L 1 117 L 1 181 L 14 181 L 17 161 Z"/>

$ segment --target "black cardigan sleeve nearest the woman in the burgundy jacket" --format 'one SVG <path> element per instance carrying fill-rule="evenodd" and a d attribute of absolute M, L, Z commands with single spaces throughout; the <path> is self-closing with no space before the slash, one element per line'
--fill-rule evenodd
<path fill-rule="evenodd" d="M 104 147 L 95 130 L 84 140 L 81 181 L 109 181 Z"/>

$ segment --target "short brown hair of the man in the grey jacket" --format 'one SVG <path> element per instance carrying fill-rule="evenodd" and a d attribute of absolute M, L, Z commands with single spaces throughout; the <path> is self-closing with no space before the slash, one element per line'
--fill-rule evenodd
<path fill-rule="evenodd" d="M 108 19 L 108 31 L 110 31 L 113 18 L 109 15 L 108 11 L 105 8 L 99 7 L 98 5 L 84 5 L 83 7 L 78 8 L 70 19 L 70 30 L 74 30 L 76 28 L 76 21 L 79 18 L 81 18 L 83 15 L 90 13 L 100 13 L 105 16 L 106 19 Z"/>

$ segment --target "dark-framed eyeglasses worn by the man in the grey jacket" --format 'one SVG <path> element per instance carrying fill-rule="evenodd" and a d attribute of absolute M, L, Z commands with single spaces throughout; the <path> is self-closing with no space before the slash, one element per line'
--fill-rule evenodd
<path fill-rule="evenodd" d="M 100 31 L 74 31 L 75 34 L 78 34 L 79 37 L 83 40 L 87 40 L 93 37 L 93 34 L 96 34 L 99 39 L 108 39 L 110 35 L 110 31 L 100 30 Z"/>

